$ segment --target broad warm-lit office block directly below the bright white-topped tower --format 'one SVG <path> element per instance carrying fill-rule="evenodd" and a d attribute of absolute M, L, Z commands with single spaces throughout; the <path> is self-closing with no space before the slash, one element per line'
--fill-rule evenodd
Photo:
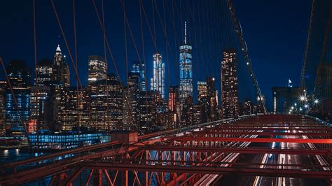
<path fill-rule="evenodd" d="M 90 127 L 123 129 L 123 87 L 115 74 L 88 86 Z"/>

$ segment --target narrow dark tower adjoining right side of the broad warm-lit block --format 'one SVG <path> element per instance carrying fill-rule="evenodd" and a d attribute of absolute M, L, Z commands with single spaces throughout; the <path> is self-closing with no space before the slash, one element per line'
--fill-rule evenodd
<path fill-rule="evenodd" d="M 123 128 L 137 130 L 139 127 L 138 99 L 139 73 L 129 73 L 127 87 L 123 90 Z"/>

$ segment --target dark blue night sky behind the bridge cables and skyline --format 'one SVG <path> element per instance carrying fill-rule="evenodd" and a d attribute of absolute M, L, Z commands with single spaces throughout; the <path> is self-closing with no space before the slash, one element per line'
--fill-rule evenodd
<path fill-rule="evenodd" d="M 101 16 L 101 1 L 95 0 Z M 179 43 L 182 43 L 184 21 L 188 21 L 189 40 L 193 45 L 193 77 L 194 91 L 197 92 L 197 80 L 205 80 L 207 76 L 217 79 L 216 88 L 220 90 L 220 62 L 221 51 L 231 47 L 235 42 L 232 24 L 226 24 L 229 17 L 225 16 L 226 6 L 223 1 L 163 1 L 155 0 L 160 17 L 164 21 L 167 40 L 160 24 L 160 17 L 151 0 L 142 0 L 151 27 L 155 33 L 156 47 L 162 53 L 166 69 L 166 87 L 179 85 Z M 0 6 L 0 56 L 5 64 L 11 59 L 24 59 L 28 66 L 34 68 L 34 34 L 33 34 L 33 6 L 30 1 L 1 1 Z M 60 16 L 70 50 L 74 55 L 74 25 L 72 1 L 54 0 L 57 13 Z M 253 63 L 254 72 L 263 94 L 267 97 L 267 106 L 271 108 L 271 87 L 285 86 L 290 78 L 293 85 L 300 82 L 300 73 L 307 38 L 307 25 L 310 17 L 310 0 L 278 0 L 278 1 L 240 1 L 234 0 L 237 18 L 240 20 L 244 38 L 247 41 L 249 55 Z M 189 5 L 187 8 L 186 4 Z M 172 8 L 173 7 L 173 8 Z M 174 9 L 177 8 L 177 9 Z M 146 76 L 151 78 L 152 55 L 155 52 L 153 39 L 148 24 L 143 15 L 144 55 L 141 47 L 141 27 L 138 1 L 126 0 L 125 9 L 127 19 L 134 40 L 137 44 L 139 57 L 134 43 L 127 31 L 127 59 L 146 59 Z M 172 21 L 174 10 L 174 22 Z M 178 10 L 178 11 L 177 11 Z M 187 12 L 186 12 L 187 11 Z M 104 2 L 106 36 L 109 40 L 120 79 L 125 83 L 126 56 L 125 36 L 123 24 L 123 6 L 120 0 L 105 0 Z M 95 8 L 90 0 L 76 2 L 76 31 L 78 52 L 78 73 L 83 85 L 88 79 L 88 55 L 104 56 L 102 29 L 100 28 Z M 153 27 L 153 13 L 154 22 Z M 186 17 L 188 13 L 188 17 Z M 181 19 L 180 19 L 180 15 Z M 59 25 L 50 1 L 36 0 L 36 31 L 37 31 L 37 61 L 52 59 L 60 43 L 63 55 L 67 55 L 67 62 L 71 65 L 69 52 L 64 45 Z M 182 24 L 181 24 L 182 23 Z M 225 23 L 225 24 L 223 24 Z M 175 29 L 173 27 L 175 26 Z M 233 38 L 228 39 L 228 38 Z M 197 46 L 197 47 L 196 47 Z M 166 50 L 167 48 L 167 50 Z M 235 46 L 235 48 L 239 48 Z M 168 54 L 168 56 L 167 56 Z M 237 55 L 242 55 L 238 53 Z M 107 51 L 109 72 L 114 72 L 111 56 Z M 71 68 L 72 69 L 72 68 Z M 247 71 L 247 69 L 241 69 Z M 1 79 L 4 73 L 1 69 Z M 249 77 L 243 78 L 244 82 Z M 71 83 L 75 85 L 74 71 L 71 70 Z M 243 85 L 245 83 L 239 83 Z M 244 86 L 245 87 L 245 86 Z M 252 87 L 251 87 L 252 89 Z M 197 93 L 194 94 L 197 96 Z M 220 95 L 219 95 L 220 96 Z"/>

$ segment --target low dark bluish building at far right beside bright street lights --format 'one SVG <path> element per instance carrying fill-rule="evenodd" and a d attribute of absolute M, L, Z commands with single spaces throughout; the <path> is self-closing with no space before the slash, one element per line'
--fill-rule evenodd
<path fill-rule="evenodd" d="M 300 96 L 299 87 L 272 87 L 273 113 L 289 113 L 294 103 L 300 106 Z"/>

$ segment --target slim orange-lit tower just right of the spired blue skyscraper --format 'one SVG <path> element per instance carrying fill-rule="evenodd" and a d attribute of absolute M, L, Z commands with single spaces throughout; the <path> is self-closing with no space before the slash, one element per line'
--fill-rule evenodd
<path fill-rule="evenodd" d="M 207 118 L 209 115 L 207 110 L 209 108 L 209 100 L 207 97 L 207 82 L 205 81 L 198 81 L 198 105 L 200 106 L 200 114 L 202 119 L 201 122 L 207 122 Z"/>

